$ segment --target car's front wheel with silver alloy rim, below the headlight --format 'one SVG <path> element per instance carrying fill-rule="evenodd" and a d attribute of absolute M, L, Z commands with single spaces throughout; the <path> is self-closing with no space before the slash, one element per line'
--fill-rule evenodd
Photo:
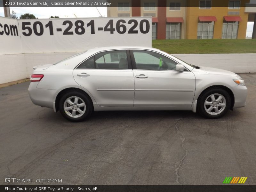
<path fill-rule="evenodd" d="M 220 118 L 231 106 L 228 92 L 221 88 L 211 88 L 202 93 L 198 99 L 199 114 L 205 118 Z"/>

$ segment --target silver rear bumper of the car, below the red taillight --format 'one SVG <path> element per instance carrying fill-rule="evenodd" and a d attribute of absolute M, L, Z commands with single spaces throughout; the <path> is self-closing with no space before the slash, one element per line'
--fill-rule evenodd
<path fill-rule="evenodd" d="M 28 93 L 31 101 L 35 105 L 54 109 L 53 102 L 55 102 L 60 90 L 38 89 L 36 88 L 37 84 L 38 82 L 31 82 L 29 84 Z"/>

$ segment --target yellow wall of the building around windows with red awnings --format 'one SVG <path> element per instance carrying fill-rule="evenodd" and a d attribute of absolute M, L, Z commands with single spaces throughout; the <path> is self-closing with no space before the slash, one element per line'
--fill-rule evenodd
<path fill-rule="evenodd" d="M 217 7 L 218 3 L 221 2 L 223 5 L 223 1 L 217 0 L 212 1 L 212 8 L 211 9 L 199 9 L 199 0 L 198 0 L 198 7 L 187 7 L 187 14 L 186 14 L 186 39 L 197 39 L 197 23 L 198 23 L 198 16 L 215 16 L 217 21 L 214 22 L 214 29 L 213 29 L 213 38 L 214 39 L 221 39 L 222 37 L 222 25 L 224 16 L 240 16 L 242 21 L 239 21 L 238 26 L 238 39 L 245 39 L 246 36 L 246 28 L 247 28 L 247 21 L 248 21 L 248 13 L 244 13 L 244 5 L 248 3 L 249 0 L 242 0 L 240 4 L 240 9 L 228 9 L 228 1 L 226 7 Z M 214 7 L 215 6 L 215 7 Z M 239 15 L 228 15 L 229 11 L 239 12 Z"/>

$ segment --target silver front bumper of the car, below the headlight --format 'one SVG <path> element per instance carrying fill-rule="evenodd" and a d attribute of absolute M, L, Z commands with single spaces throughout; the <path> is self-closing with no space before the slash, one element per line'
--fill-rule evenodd
<path fill-rule="evenodd" d="M 235 103 L 233 108 L 239 108 L 245 106 L 245 101 L 247 97 L 247 88 L 243 85 L 237 85 L 233 87 L 233 93 L 235 97 Z"/>

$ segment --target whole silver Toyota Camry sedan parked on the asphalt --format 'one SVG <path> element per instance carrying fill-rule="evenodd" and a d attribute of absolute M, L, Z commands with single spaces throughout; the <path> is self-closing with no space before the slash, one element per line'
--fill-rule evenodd
<path fill-rule="evenodd" d="M 29 96 L 36 105 L 78 122 L 93 111 L 192 110 L 219 118 L 245 106 L 247 88 L 233 72 L 190 65 L 148 47 L 91 49 L 34 67 Z"/>

